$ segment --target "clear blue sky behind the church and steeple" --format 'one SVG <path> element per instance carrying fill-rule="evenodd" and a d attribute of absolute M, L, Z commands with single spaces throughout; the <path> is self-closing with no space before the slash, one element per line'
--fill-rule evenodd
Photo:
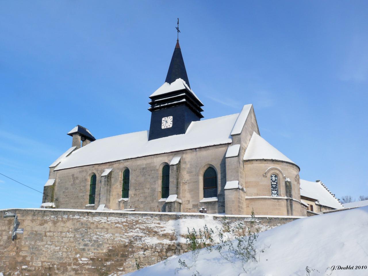
<path fill-rule="evenodd" d="M 259 130 L 337 197 L 368 195 L 367 1 L 1 1 L 0 173 L 40 191 L 75 125 L 149 128 L 176 43 L 213 118 Z M 0 176 L 0 208 L 42 195 Z"/>

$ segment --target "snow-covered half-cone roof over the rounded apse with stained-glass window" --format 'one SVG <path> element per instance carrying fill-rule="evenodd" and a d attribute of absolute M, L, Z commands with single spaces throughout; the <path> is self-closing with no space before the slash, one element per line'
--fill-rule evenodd
<path fill-rule="evenodd" d="M 279 160 L 295 164 L 261 136 L 253 132 L 248 147 L 244 153 L 244 160 Z"/>

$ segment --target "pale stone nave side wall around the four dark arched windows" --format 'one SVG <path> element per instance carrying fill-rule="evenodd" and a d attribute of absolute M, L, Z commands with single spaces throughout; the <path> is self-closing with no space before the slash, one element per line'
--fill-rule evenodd
<path fill-rule="evenodd" d="M 161 171 L 163 164 L 169 164 L 174 156 L 181 156 L 180 164 L 170 166 L 170 194 L 177 194 L 182 201 L 181 212 L 198 212 L 199 201 L 203 198 L 203 172 L 211 165 L 217 171 L 217 205 L 213 213 L 224 212 L 224 191 L 226 184 L 226 145 L 210 146 L 181 152 L 145 156 L 105 164 L 76 167 L 64 170 L 50 170 L 49 178 L 55 178 L 54 197 L 56 208 L 96 209 L 106 204 L 113 210 L 134 209 L 136 211 L 163 211 L 161 199 Z M 179 169 L 180 166 L 180 169 Z M 57 167 L 56 167 L 57 168 Z M 121 198 L 122 174 L 130 170 L 129 200 Z M 109 181 L 102 181 L 105 169 L 112 169 Z M 96 174 L 95 206 L 87 206 L 89 183 Z M 106 185 L 109 185 L 107 187 Z M 101 201 L 100 199 L 103 199 Z M 106 202 L 105 202 L 106 201 Z M 200 206 L 201 205 L 201 206 Z"/>

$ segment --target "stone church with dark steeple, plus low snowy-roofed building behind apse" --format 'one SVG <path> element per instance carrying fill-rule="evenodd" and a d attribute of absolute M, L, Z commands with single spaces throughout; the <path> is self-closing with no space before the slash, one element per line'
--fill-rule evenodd
<path fill-rule="evenodd" d="M 49 167 L 41 207 L 275 216 L 343 208 L 321 181 L 301 181 L 300 167 L 261 137 L 251 104 L 204 119 L 179 40 L 149 99 L 148 131 L 96 139 L 72 128 L 71 148 Z"/>

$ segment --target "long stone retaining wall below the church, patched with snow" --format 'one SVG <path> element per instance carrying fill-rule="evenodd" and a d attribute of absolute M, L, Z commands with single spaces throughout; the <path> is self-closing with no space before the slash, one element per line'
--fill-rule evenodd
<path fill-rule="evenodd" d="M 14 217 L 19 228 L 12 241 Z M 187 227 L 215 229 L 223 215 L 67 209 L 0 210 L 0 272 L 10 275 L 118 276 L 186 251 Z M 260 231 L 298 217 L 257 217 Z M 250 216 L 226 219 L 249 224 Z"/>

